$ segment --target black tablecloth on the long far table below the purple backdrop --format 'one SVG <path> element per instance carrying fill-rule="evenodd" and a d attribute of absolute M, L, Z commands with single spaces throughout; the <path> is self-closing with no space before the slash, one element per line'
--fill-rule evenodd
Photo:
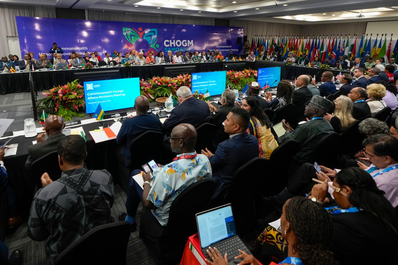
<path fill-rule="evenodd" d="M 259 61 L 259 60 L 257 60 Z M 256 61 L 256 62 L 257 62 Z M 76 79 L 76 72 L 88 71 L 106 71 L 119 70 L 120 77 L 140 77 L 140 79 L 149 79 L 153 76 L 162 76 L 165 67 L 181 67 L 195 65 L 196 72 L 213 72 L 230 70 L 234 68 L 225 68 L 225 64 L 244 64 L 240 68 L 257 69 L 261 67 L 261 63 L 266 61 L 259 61 L 256 64 L 248 61 L 229 61 L 229 62 L 205 62 L 205 63 L 187 63 L 187 64 L 155 64 L 145 66 L 130 66 L 130 67 L 115 67 L 115 68 L 94 68 L 94 69 L 70 69 L 70 70 L 53 70 L 53 71 L 35 71 L 31 72 L 35 89 L 43 91 L 51 89 L 53 86 L 65 85 L 66 83 Z M 243 70 L 243 69 L 234 69 Z M 29 72 L 4 73 L 0 74 L 0 94 L 25 92 L 29 88 Z"/>

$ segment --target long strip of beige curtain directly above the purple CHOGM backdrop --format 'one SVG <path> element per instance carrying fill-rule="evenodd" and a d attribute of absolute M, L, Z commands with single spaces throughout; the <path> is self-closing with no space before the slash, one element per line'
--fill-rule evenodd
<path fill-rule="evenodd" d="M 185 17 L 175 15 L 154 15 L 124 12 L 102 12 L 102 10 L 88 10 L 89 20 L 127 21 L 141 23 L 166 23 L 189 25 L 214 25 L 214 18 Z"/>

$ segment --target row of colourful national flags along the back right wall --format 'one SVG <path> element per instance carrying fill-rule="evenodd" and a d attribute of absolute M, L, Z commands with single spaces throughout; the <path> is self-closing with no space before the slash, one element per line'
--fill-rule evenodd
<path fill-rule="evenodd" d="M 368 39 L 368 34 L 362 35 L 361 38 L 358 38 L 356 34 L 352 38 L 349 34 L 345 35 L 337 35 L 335 37 L 332 36 L 323 36 L 323 37 L 315 37 L 312 38 L 308 35 L 307 39 L 304 39 L 303 36 L 255 36 L 252 38 L 252 44 L 250 47 L 250 52 L 254 52 L 256 57 L 259 57 L 261 54 L 261 50 L 269 52 L 270 54 L 273 52 L 274 46 L 276 43 L 278 46 L 281 46 L 281 58 L 284 59 L 289 56 L 289 52 L 296 52 L 297 56 L 300 57 L 303 54 L 307 55 L 307 58 L 310 61 L 314 61 L 315 57 L 318 56 L 321 61 L 324 61 L 330 54 L 332 54 L 334 59 L 338 59 L 339 56 L 347 55 L 348 58 L 359 57 L 364 59 L 367 54 L 373 58 L 383 57 L 385 62 L 388 62 L 390 58 L 395 59 L 395 63 L 398 63 L 398 40 L 395 41 L 395 45 L 393 46 L 392 34 L 390 39 L 387 39 L 387 34 L 382 34 L 381 37 L 378 37 L 378 34 L 375 39 L 372 40 L 372 34 Z"/>

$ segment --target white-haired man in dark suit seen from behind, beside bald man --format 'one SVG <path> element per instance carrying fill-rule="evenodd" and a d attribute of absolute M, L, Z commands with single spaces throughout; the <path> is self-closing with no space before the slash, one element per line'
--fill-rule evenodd
<path fill-rule="evenodd" d="M 177 90 L 177 97 L 181 104 L 170 112 L 170 117 L 163 124 L 163 133 L 167 137 L 178 124 L 189 123 L 197 128 L 205 122 L 210 122 L 209 105 L 194 98 L 189 87 L 180 87 Z"/>

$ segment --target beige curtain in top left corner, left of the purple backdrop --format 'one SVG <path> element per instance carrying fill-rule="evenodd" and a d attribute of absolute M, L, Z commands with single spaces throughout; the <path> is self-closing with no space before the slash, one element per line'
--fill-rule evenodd
<path fill-rule="evenodd" d="M 0 4 L 0 54 L 10 53 L 7 36 L 17 37 L 16 16 L 24 17 L 55 17 L 55 8 L 46 6 L 26 6 Z"/>

